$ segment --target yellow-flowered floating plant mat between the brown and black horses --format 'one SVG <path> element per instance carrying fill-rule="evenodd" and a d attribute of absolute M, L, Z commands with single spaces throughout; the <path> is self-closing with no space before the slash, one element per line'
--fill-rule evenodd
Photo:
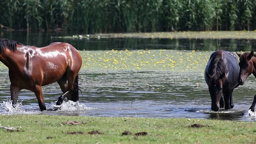
<path fill-rule="evenodd" d="M 106 50 L 80 51 L 86 71 L 133 70 L 200 72 L 212 52 L 199 50 Z"/>

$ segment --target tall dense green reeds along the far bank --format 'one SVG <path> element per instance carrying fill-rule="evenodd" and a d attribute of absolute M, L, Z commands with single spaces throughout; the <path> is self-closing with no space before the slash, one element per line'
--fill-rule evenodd
<path fill-rule="evenodd" d="M 1 0 L 8 30 L 158 32 L 256 29 L 255 0 Z"/>

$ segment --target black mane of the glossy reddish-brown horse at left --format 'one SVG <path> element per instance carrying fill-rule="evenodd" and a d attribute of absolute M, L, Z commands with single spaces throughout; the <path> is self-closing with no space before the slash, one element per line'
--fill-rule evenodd
<path fill-rule="evenodd" d="M 0 51 L 3 53 L 4 50 L 7 48 L 11 51 L 16 51 L 17 50 L 17 44 L 21 44 L 20 42 L 14 41 L 14 40 L 8 40 L 8 39 L 0 39 Z"/>

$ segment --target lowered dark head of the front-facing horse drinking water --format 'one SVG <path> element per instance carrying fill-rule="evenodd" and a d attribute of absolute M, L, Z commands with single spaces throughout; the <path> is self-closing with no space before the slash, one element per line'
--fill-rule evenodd
<path fill-rule="evenodd" d="M 222 96 L 222 86 L 226 79 L 226 74 L 223 72 L 220 76 L 216 74 L 210 75 L 206 73 L 209 79 L 208 89 L 212 99 L 211 109 L 217 112 L 220 108 L 220 98 Z"/>

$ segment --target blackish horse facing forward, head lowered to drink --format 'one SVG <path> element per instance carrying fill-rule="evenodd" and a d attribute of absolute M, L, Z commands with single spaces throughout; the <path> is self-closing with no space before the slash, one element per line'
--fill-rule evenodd
<path fill-rule="evenodd" d="M 212 53 L 204 71 L 204 79 L 212 99 L 212 110 L 218 111 L 224 106 L 225 110 L 234 107 L 232 93 L 238 86 L 238 74 L 238 58 L 234 53 L 224 50 Z"/>

